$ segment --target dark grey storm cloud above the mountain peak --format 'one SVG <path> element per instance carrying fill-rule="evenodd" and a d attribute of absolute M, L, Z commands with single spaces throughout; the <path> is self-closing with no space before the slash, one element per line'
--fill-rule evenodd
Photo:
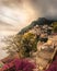
<path fill-rule="evenodd" d="M 41 16 L 57 17 L 57 0 L 30 0 L 30 3 L 36 12 L 41 12 Z"/>

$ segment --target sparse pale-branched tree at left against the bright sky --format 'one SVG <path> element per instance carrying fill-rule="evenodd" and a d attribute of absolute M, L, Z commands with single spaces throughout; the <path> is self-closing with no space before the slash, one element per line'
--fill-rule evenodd
<path fill-rule="evenodd" d="M 22 35 L 4 37 L 2 42 L 4 42 L 5 47 L 3 47 L 3 49 L 7 50 L 7 52 L 11 56 L 16 52 L 21 57 L 22 56 L 21 38 Z"/>

